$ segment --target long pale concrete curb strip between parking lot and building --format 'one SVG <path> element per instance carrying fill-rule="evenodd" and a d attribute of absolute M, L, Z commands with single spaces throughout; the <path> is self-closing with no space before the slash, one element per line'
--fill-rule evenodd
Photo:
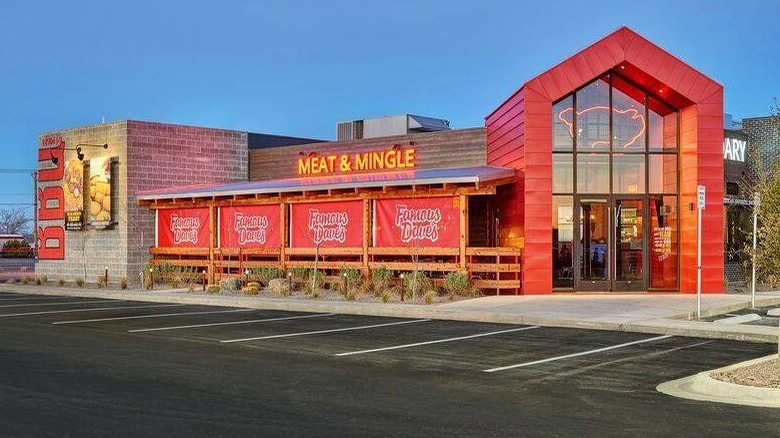
<path fill-rule="evenodd" d="M 773 327 L 712 324 L 680 319 L 649 319 L 641 322 L 611 322 L 588 319 L 563 319 L 524 316 L 516 313 L 451 309 L 446 306 L 421 304 L 378 304 L 346 301 L 308 301 L 299 299 L 258 298 L 244 296 L 187 293 L 183 289 L 159 291 L 121 291 L 111 289 L 75 289 L 57 286 L 24 286 L 0 284 L 0 292 L 30 295 L 58 295 L 81 298 L 107 298 L 153 303 L 194 304 L 219 307 L 243 307 L 292 312 L 338 313 L 346 315 L 382 316 L 393 318 L 428 318 L 498 324 L 540 325 L 590 330 L 624 331 L 657 335 L 689 336 L 708 339 L 777 343 L 778 330 Z M 780 298 L 765 301 L 780 301 Z M 769 304 L 767 304 L 769 305 Z M 733 309 L 734 306 L 725 306 Z M 716 312 L 718 309 L 710 309 Z M 724 312 L 731 311 L 725 310 Z"/>

